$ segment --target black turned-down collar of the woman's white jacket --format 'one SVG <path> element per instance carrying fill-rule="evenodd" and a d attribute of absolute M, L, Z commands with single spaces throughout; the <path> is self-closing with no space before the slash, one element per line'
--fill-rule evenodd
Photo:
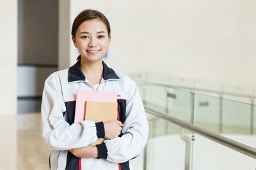
<path fill-rule="evenodd" d="M 85 81 L 84 73 L 80 68 L 81 60 L 76 62 L 74 66 L 68 68 L 68 82 L 72 81 Z M 108 79 L 119 79 L 116 75 L 115 71 L 112 68 L 109 68 L 104 61 L 102 61 L 103 65 L 103 79 L 106 81 Z"/>

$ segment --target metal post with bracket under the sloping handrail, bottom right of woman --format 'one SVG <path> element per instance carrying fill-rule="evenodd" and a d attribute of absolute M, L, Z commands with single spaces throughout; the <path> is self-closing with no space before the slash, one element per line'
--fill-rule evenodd
<path fill-rule="evenodd" d="M 185 141 L 185 170 L 193 169 L 193 141 L 195 141 L 195 135 L 188 136 L 184 133 L 184 129 L 180 128 L 180 139 Z"/>

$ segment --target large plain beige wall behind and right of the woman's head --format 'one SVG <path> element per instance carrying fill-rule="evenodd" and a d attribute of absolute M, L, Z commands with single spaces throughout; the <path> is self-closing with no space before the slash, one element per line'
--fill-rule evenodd
<path fill-rule="evenodd" d="M 86 8 L 112 29 L 109 66 L 256 86 L 256 1 L 71 1 L 70 27 Z M 77 52 L 70 43 L 74 64 Z"/>

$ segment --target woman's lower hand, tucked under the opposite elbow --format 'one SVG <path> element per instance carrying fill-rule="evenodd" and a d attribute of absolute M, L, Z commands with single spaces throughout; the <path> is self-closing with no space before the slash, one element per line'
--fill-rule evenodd
<path fill-rule="evenodd" d="M 85 146 L 83 148 L 75 148 L 69 150 L 77 158 L 97 158 L 99 157 L 98 149 L 96 146 Z"/>

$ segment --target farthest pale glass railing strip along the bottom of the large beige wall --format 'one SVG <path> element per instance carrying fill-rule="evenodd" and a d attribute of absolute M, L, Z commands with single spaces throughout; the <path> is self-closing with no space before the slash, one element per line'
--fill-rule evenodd
<path fill-rule="evenodd" d="M 152 72 L 130 73 L 132 79 L 150 84 L 159 84 L 172 88 L 185 89 L 196 93 L 204 93 L 211 96 L 223 97 L 253 104 L 256 103 L 256 89 L 221 82 L 202 81 L 175 77 L 173 75 Z"/>

